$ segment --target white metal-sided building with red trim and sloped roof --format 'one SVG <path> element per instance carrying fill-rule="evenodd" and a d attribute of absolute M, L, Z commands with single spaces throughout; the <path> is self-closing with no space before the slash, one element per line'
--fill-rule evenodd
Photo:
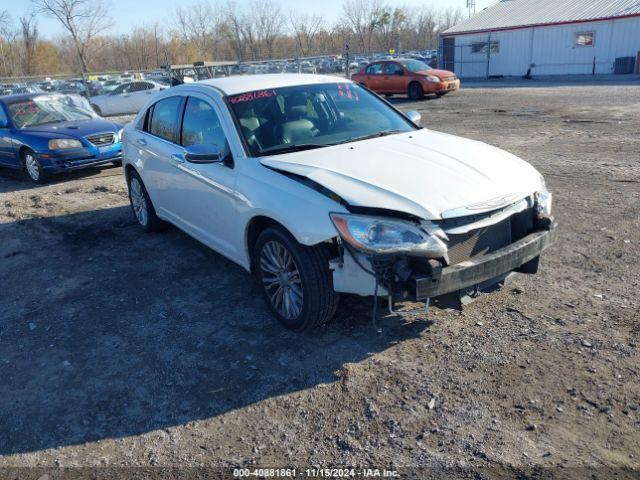
<path fill-rule="evenodd" d="M 640 0 L 501 0 L 440 37 L 459 77 L 634 73 Z"/>

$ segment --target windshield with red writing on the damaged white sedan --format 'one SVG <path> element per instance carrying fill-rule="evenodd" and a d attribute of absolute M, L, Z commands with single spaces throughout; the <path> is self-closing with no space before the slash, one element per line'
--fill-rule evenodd
<path fill-rule="evenodd" d="M 417 127 L 353 83 L 258 90 L 227 97 L 253 156 L 364 140 Z"/>

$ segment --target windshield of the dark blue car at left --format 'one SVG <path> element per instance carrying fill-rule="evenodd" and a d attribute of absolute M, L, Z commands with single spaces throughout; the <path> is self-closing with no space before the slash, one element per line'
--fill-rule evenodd
<path fill-rule="evenodd" d="M 87 100 L 79 95 L 42 95 L 16 100 L 7 106 L 16 128 L 97 117 Z"/>

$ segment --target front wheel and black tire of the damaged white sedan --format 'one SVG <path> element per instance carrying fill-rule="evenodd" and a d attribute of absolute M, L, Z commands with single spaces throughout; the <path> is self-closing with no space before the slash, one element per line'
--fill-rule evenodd
<path fill-rule="evenodd" d="M 288 329 L 311 330 L 327 323 L 338 308 L 327 245 L 307 247 L 279 226 L 264 230 L 254 261 L 262 292 L 274 316 Z"/>

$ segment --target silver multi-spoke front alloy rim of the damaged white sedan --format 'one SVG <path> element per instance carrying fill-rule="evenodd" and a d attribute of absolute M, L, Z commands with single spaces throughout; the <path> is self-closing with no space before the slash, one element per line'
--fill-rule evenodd
<path fill-rule="evenodd" d="M 260 252 L 262 284 L 271 305 L 288 320 L 302 313 L 303 288 L 293 255 L 280 242 L 272 240 Z"/>

